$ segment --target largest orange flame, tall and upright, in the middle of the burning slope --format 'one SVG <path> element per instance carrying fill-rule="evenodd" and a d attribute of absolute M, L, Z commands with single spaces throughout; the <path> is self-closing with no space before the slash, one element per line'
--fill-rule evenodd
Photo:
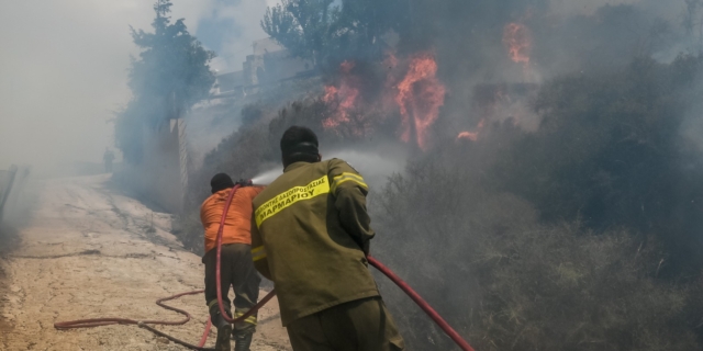
<path fill-rule="evenodd" d="M 402 117 L 401 138 L 410 141 L 414 127 L 417 145 L 422 149 L 426 149 L 428 128 L 444 105 L 446 89 L 436 73 L 437 63 L 432 55 L 416 55 L 411 58 L 408 73 L 397 87 L 395 102 Z"/>

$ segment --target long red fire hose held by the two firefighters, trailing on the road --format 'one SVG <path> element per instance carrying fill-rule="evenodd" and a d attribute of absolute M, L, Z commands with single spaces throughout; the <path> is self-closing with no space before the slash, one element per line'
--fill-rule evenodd
<path fill-rule="evenodd" d="M 220 219 L 220 229 L 217 230 L 217 240 L 216 240 L 216 247 L 217 247 L 217 259 L 216 259 L 216 264 L 215 264 L 215 271 L 216 271 L 216 286 L 220 286 L 221 284 L 221 278 L 220 278 L 220 272 L 221 272 L 221 256 L 222 256 L 222 233 L 224 229 L 224 222 L 225 222 L 225 217 L 226 214 L 230 210 L 230 205 L 232 204 L 232 199 L 234 196 L 234 193 L 236 192 L 237 189 L 239 189 L 239 184 L 236 184 L 232 191 L 230 192 L 230 196 L 227 196 L 227 201 L 225 202 L 224 205 L 224 211 L 222 212 L 222 218 Z M 367 257 L 369 263 L 371 265 L 373 265 L 376 269 L 378 269 L 381 273 L 386 274 L 386 276 L 388 276 L 393 283 L 395 283 L 395 285 L 398 285 L 403 292 L 405 292 L 405 294 L 408 294 L 408 296 L 410 296 L 410 298 L 412 298 L 417 306 L 420 306 L 426 314 L 427 316 L 429 316 L 429 318 L 432 318 L 432 320 L 434 320 L 437 326 L 439 328 L 442 328 L 442 330 L 449 337 L 451 338 L 451 340 L 454 340 L 454 342 L 456 342 L 456 344 L 464 351 L 475 351 L 473 348 L 471 348 L 471 346 L 461 338 L 461 336 L 459 336 L 459 333 L 454 330 L 454 328 L 451 328 L 451 326 L 449 326 L 449 324 L 444 320 L 444 318 L 442 318 L 442 316 L 439 316 L 439 314 L 434 310 L 434 308 L 432 308 L 432 306 L 429 306 L 429 304 L 427 304 L 427 302 L 425 302 L 412 287 L 410 287 L 410 285 L 408 285 L 408 283 L 405 283 L 402 279 L 400 279 L 395 273 L 393 273 L 393 271 L 391 271 L 388 267 L 383 265 L 381 262 L 377 261 L 375 258 L 372 257 Z M 183 320 L 180 321 L 164 321 L 164 320 L 143 320 L 143 321 L 138 321 L 138 320 L 134 320 L 134 319 L 126 319 L 126 318 L 93 318 L 93 319 L 80 319 L 80 320 L 71 320 L 71 321 L 63 321 L 63 322 L 55 322 L 54 324 L 54 328 L 58 329 L 58 330 L 64 330 L 64 329 L 72 329 L 72 328 L 89 328 L 89 327 L 99 327 L 99 326 L 108 326 L 108 325 L 115 325 L 115 324 L 120 324 L 120 325 L 138 325 L 140 328 L 144 328 L 147 329 L 160 337 L 167 338 L 176 343 L 179 343 L 183 347 L 187 347 L 191 350 L 214 350 L 214 349 L 208 349 L 208 348 L 203 348 L 203 346 L 205 344 L 207 340 L 208 340 L 208 333 L 210 332 L 210 328 L 212 326 L 212 322 L 210 319 L 208 319 L 208 324 L 205 326 L 205 330 L 203 332 L 203 336 L 199 342 L 198 346 L 194 344 L 190 344 L 188 342 L 185 342 L 182 340 L 176 339 L 171 336 L 168 336 L 166 333 L 164 333 L 163 331 L 155 329 L 153 327 L 147 326 L 146 324 L 152 324 L 152 325 L 169 325 L 169 326 L 178 326 L 178 325 L 185 325 L 186 322 L 188 322 L 191 318 L 190 314 L 182 310 L 182 309 L 178 309 L 176 307 L 171 307 L 168 306 L 166 304 L 164 304 L 163 302 L 165 301 L 170 301 L 170 299 L 175 299 L 178 298 L 180 296 L 185 296 L 185 295 L 194 295 L 194 294 L 200 294 L 202 293 L 202 290 L 199 291 L 193 291 L 193 292 L 188 292 L 188 293 L 181 293 L 181 294 L 177 294 L 174 296 L 169 296 L 169 297 L 165 297 L 165 298 L 160 298 L 158 301 L 156 301 L 156 304 L 166 308 L 166 309 L 170 309 L 174 312 L 177 312 L 179 314 L 182 314 L 186 316 L 186 318 Z M 268 293 L 258 304 L 256 304 L 256 306 L 254 306 L 252 309 L 249 309 L 247 313 L 245 313 L 244 315 L 237 317 L 237 318 L 230 318 L 228 315 L 225 313 L 223 304 L 222 304 L 222 290 L 217 288 L 217 305 L 220 306 L 220 313 L 222 314 L 222 316 L 225 318 L 225 320 L 227 320 L 231 324 L 234 324 L 236 321 L 241 321 L 246 319 L 247 317 L 254 315 L 259 308 L 261 308 L 266 303 L 268 303 L 274 295 L 276 295 L 276 291 L 271 291 L 270 293 Z"/>

